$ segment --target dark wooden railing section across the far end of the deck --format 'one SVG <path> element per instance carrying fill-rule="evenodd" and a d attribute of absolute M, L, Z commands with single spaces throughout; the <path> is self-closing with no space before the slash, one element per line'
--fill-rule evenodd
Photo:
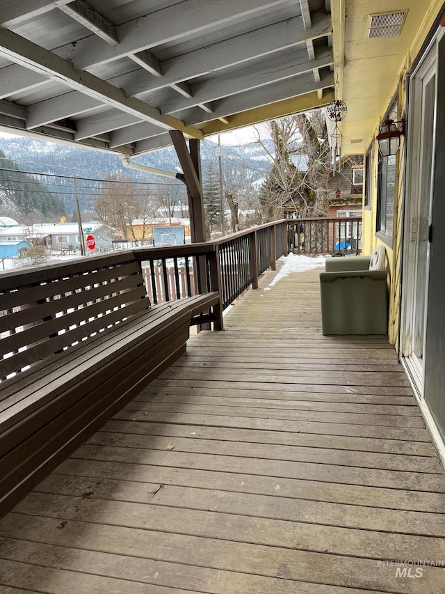
<path fill-rule="evenodd" d="M 293 253 L 362 252 L 362 217 L 289 219 L 288 230 Z"/>

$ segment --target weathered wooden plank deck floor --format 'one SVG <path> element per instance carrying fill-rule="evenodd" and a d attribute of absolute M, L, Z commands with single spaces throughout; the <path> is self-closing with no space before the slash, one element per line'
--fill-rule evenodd
<path fill-rule="evenodd" d="M 0 592 L 445 593 L 445 477 L 385 337 L 261 280 L 0 522 Z"/>

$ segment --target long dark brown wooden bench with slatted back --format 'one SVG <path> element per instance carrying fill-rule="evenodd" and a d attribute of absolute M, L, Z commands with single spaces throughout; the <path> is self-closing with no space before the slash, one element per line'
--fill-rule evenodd
<path fill-rule="evenodd" d="M 175 361 L 218 299 L 151 306 L 131 251 L 0 274 L 0 515 Z"/>

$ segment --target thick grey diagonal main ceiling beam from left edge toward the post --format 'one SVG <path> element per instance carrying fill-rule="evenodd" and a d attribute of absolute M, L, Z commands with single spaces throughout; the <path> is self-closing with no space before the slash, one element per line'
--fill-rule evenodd
<path fill-rule="evenodd" d="M 7 29 L 0 31 L 0 54 L 124 113 L 159 125 L 164 130 L 181 130 L 195 138 L 202 137 L 199 130 L 186 127 L 183 122 L 171 116 L 161 115 L 158 109 L 135 97 L 127 97 L 120 88 L 102 81 L 89 72 L 76 70 L 72 63 Z"/>

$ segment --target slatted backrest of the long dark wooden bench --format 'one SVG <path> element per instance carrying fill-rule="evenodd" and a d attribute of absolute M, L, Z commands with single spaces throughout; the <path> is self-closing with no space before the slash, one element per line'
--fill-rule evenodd
<path fill-rule="evenodd" d="M 0 274 L 0 381 L 149 305 L 129 251 Z"/>

